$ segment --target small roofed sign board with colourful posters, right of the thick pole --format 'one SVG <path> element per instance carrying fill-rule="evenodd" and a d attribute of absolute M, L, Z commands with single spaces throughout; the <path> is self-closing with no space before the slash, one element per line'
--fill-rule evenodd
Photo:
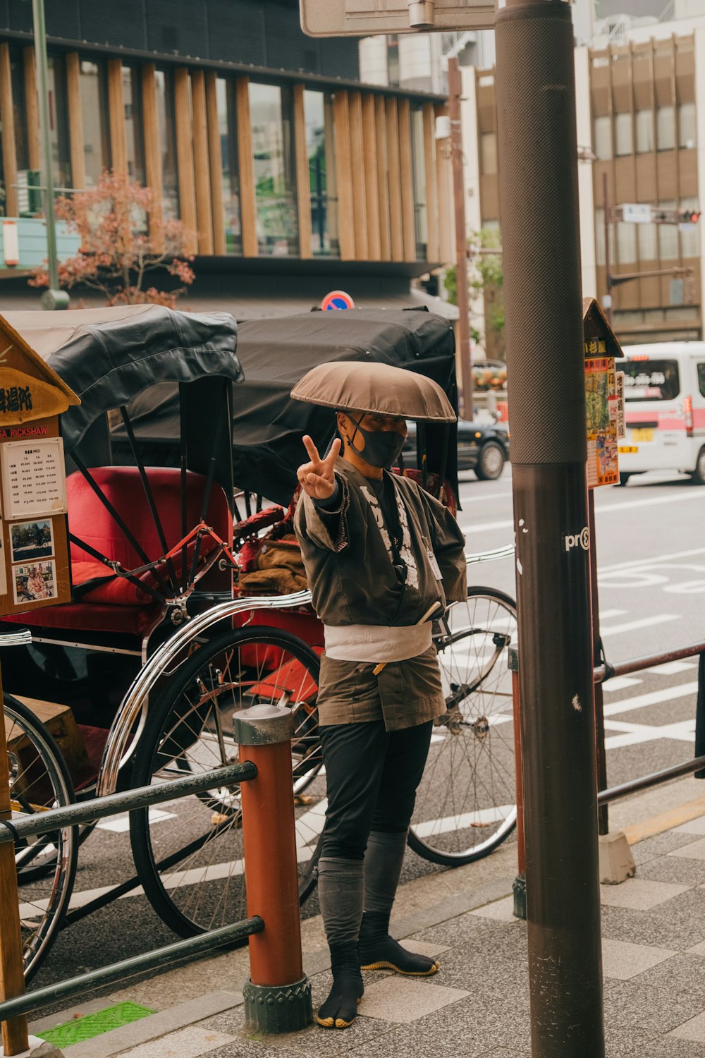
<path fill-rule="evenodd" d="M 594 297 L 582 303 L 588 430 L 588 488 L 619 481 L 618 439 L 624 431 L 624 385 L 614 361 L 621 348 Z M 621 391 L 620 391 L 621 389 Z"/>

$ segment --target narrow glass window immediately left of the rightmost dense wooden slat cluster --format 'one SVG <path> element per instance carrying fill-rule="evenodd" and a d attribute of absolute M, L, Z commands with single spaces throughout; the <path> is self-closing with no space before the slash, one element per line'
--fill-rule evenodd
<path fill-rule="evenodd" d="M 329 92 L 303 93 L 311 236 L 314 256 L 338 256 L 338 196 L 335 170 L 333 96 Z"/>

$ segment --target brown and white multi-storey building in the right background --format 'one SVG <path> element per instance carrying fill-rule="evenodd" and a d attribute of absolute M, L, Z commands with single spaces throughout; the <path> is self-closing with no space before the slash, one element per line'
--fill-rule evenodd
<path fill-rule="evenodd" d="M 627 203 L 705 203 L 705 17 L 641 22 L 621 20 L 619 33 L 575 53 L 583 292 L 609 304 L 607 247 L 610 275 L 636 277 L 611 290 L 614 327 L 628 344 L 702 338 L 705 297 L 705 218 L 631 223 L 613 214 Z M 494 68 L 464 71 L 464 89 L 471 224 L 491 227 L 501 222 Z"/>

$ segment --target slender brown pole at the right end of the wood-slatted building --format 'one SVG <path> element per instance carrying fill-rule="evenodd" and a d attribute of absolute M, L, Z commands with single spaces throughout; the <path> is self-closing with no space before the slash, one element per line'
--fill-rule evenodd
<path fill-rule="evenodd" d="M 456 288 L 458 297 L 458 336 L 462 377 L 463 415 L 472 419 L 472 352 L 470 349 L 470 305 L 467 293 L 467 230 L 465 227 L 465 179 L 463 176 L 463 131 L 460 101 L 463 94 L 458 59 L 448 59 L 448 116 L 450 117 L 450 163 L 456 219 Z"/>

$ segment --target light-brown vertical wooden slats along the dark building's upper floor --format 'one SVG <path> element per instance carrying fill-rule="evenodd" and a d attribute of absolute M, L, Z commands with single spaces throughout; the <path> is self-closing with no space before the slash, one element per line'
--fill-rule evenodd
<path fill-rule="evenodd" d="M 85 127 L 84 109 L 87 105 L 81 92 L 86 92 L 88 81 L 81 81 L 81 61 L 87 59 L 78 52 L 64 52 L 62 63 L 57 63 L 57 77 L 66 71 L 66 103 L 63 85 L 57 80 L 53 98 L 55 108 L 66 106 L 66 147 L 61 145 L 71 170 L 71 186 L 86 187 L 87 158 L 90 144 L 86 138 L 91 130 Z M 6 213 L 17 212 L 17 193 L 13 184 L 17 182 L 17 146 L 19 129 L 15 128 L 17 107 L 13 106 L 13 78 L 11 60 L 20 62 L 23 78 L 23 120 L 26 123 L 26 153 L 22 154 L 22 165 L 39 169 L 41 150 L 37 114 L 37 89 L 35 56 L 32 47 L 21 47 L 15 42 L 0 42 L 0 111 L 2 113 L 1 149 L 4 183 L 7 195 Z M 225 255 L 234 252 L 229 238 L 226 240 L 224 202 L 228 214 L 233 214 L 239 199 L 240 234 L 242 255 L 257 257 L 258 242 L 257 187 L 253 154 L 253 118 L 251 113 L 249 78 L 245 75 L 206 70 L 196 65 L 174 66 L 166 72 L 152 61 L 136 63 L 138 93 L 134 103 L 140 109 L 126 114 L 129 102 L 127 74 L 124 63 L 135 63 L 124 56 L 90 56 L 91 62 L 100 67 L 100 77 L 107 87 L 107 114 L 105 115 L 106 141 L 110 143 L 110 165 L 116 172 L 128 171 L 128 143 L 132 158 L 132 135 L 142 136 L 144 151 L 144 180 L 152 189 L 154 206 L 151 214 L 151 234 L 160 237 L 163 227 L 164 187 L 178 186 L 178 202 L 171 204 L 178 209 L 184 226 L 192 233 L 189 252 L 202 256 Z M 14 66 L 12 71 L 15 71 Z M 130 76 L 133 76 L 130 74 Z M 221 80 L 222 78 L 222 80 Z M 227 80 L 226 91 L 223 85 Z M 173 92 L 173 99 L 162 96 Z M 412 160 L 413 136 L 411 127 L 410 97 L 389 91 L 376 91 L 360 87 L 359 90 L 340 89 L 334 83 L 326 88 L 307 85 L 304 78 L 293 86 L 293 135 L 290 141 L 296 197 L 296 224 L 298 230 L 298 252 L 301 259 L 311 259 L 331 252 L 346 261 L 395 261 L 416 260 L 415 203 L 419 189 L 414 188 L 414 167 Z M 323 120 L 320 110 L 317 125 L 321 128 L 316 135 L 316 149 L 320 151 L 317 162 L 316 194 L 312 194 L 309 151 L 312 149 L 310 133 L 307 132 L 309 97 L 307 91 L 326 93 Z M 426 259 L 442 259 L 448 240 L 442 238 L 442 216 L 447 213 L 440 199 L 447 193 L 447 182 L 441 179 L 444 170 L 437 157 L 433 135 L 434 104 L 414 103 L 423 107 L 424 142 L 419 164 L 425 168 L 424 183 L 427 201 L 427 253 Z M 316 107 L 320 101 L 316 101 Z M 226 107 L 227 113 L 222 109 Z M 235 113 L 233 113 L 233 110 Z M 86 111 L 86 126 L 89 111 Z M 171 121 L 173 129 L 165 129 L 165 120 Z M 56 117 L 56 114 L 55 114 Z M 132 120 L 133 125 L 128 125 Z M 54 134 L 62 134 L 61 122 L 55 125 Z M 58 130 L 58 132 L 56 131 Z M 173 134 L 175 141 L 175 162 L 165 134 Z M 237 152 L 227 144 L 224 135 L 237 135 Z M 285 138 L 284 138 L 285 140 Z M 105 145 L 104 145 L 105 146 Z M 233 191 L 223 183 L 224 160 L 229 147 L 229 165 L 237 172 L 230 172 Z M 141 161 L 140 145 L 135 145 L 135 158 Z M 62 154 L 60 156 L 63 157 Z M 312 156 L 313 157 L 313 156 Z M 175 165 L 175 174 L 163 171 L 165 164 Z M 259 171 L 259 168 L 258 168 Z M 238 196 L 235 195 L 235 181 Z M 230 196 L 227 198 L 227 196 Z M 313 231 L 312 218 L 315 220 Z M 237 218 L 228 217 L 234 233 Z M 238 245 L 238 239 L 234 240 Z M 262 251 L 263 252 L 263 251 Z M 452 259 L 450 254 L 448 259 Z"/>

